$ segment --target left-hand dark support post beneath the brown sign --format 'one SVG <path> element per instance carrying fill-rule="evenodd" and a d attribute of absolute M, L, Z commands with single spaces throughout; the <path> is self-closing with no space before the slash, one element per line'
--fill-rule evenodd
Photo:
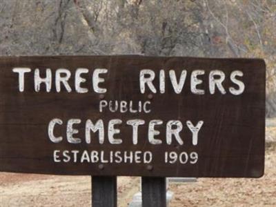
<path fill-rule="evenodd" d="M 117 177 L 92 177 L 92 206 L 117 207 Z"/>

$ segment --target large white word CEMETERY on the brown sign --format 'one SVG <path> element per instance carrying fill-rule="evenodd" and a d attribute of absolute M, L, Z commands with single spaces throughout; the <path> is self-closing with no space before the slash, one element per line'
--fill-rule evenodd
<path fill-rule="evenodd" d="M 159 135 L 159 130 L 155 129 L 155 126 L 160 126 L 164 123 L 162 120 L 151 120 L 148 123 L 148 141 L 150 144 L 162 144 L 161 139 L 155 138 L 155 135 Z M 59 136 L 56 137 L 54 135 L 54 129 L 56 125 L 62 125 L 63 121 L 61 119 L 52 119 L 48 126 L 48 135 L 52 142 L 59 143 L 63 140 L 63 137 Z M 81 119 L 70 119 L 67 121 L 66 126 L 66 139 L 71 144 L 79 144 L 81 143 L 81 139 L 77 137 L 73 137 L 73 135 L 77 134 L 79 130 L 77 127 L 74 128 L 74 125 L 81 124 Z M 123 139 L 115 138 L 114 135 L 119 134 L 119 126 L 122 124 L 121 119 L 111 119 L 108 122 L 108 141 L 110 144 L 122 144 Z M 132 138 L 125 137 L 125 139 L 132 139 L 132 144 L 138 144 L 138 132 L 139 126 L 146 124 L 146 121 L 143 119 L 130 119 L 126 121 L 126 124 L 132 127 Z M 186 121 L 186 126 L 190 130 L 191 134 L 193 135 L 193 145 L 197 145 L 198 140 L 198 132 L 201 126 L 204 124 L 204 121 L 199 121 L 197 124 L 194 124 L 191 121 Z M 83 141 L 86 144 L 91 143 L 91 132 L 98 132 L 99 133 L 99 144 L 104 143 L 104 124 L 103 120 L 99 119 L 93 123 L 90 119 L 86 120 L 85 124 L 85 139 Z M 116 128 L 117 127 L 117 128 Z M 179 120 L 170 120 L 166 124 L 166 144 L 172 144 L 172 137 L 175 137 L 177 144 L 183 145 L 184 141 L 181 139 L 179 132 L 183 129 L 183 124 Z M 143 137 L 145 139 L 145 137 Z"/>

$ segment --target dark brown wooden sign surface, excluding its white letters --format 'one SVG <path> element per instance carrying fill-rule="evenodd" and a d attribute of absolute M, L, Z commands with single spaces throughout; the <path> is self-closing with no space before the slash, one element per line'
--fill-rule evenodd
<path fill-rule="evenodd" d="M 24 91 L 19 91 L 19 75 L 13 68 L 30 68 L 24 78 Z M 41 77 L 46 76 L 46 69 L 52 72 L 50 92 L 46 92 L 45 84 L 40 90 L 34 90 L 34 70 L 39 68 Z M 68 81 L 71 92 L 61 86 L 57 92 L 55 85 L 56 72 L 66 68 L 71 72 Z M 86 82 L 81 87 L 88 92 L 79 93 L 75 88 L 75 72 L 77 68 L 87 68 L 88 73 L 81 77 Z M 93 71 L 106 68 L 108 72 L 101 74 L 104 82 L 99 87 L 106 92 L 95 92 L 92 83 Z M 150 69 L 155 72 L 152 82 L 157 92 L 146 87 L 141 93 L 139 77 L 141 70 Z M 159 90 L 159 73 L 164 70 L 165 92 Z M 182 70 L 186 70 L 183 90 L 177 94 L 172 86 L 169 70 L 175 70 L 177 80 Z M 204 70 L 197 89 L 204 90 L 204 95 L 195 94 L 191 90 L 191 74 L 194 70 Z M 222 83 L 226 94 L 218 88 L 210 92 L 210 72 L 219 70 L 224 73 Z M 230 81 L 231 72 L 239 70 L 244 83 L 244 92 L 233 95 L 229 88 L 238 88 Z M 99 175 L 99 176 L 152 176 L 152 177 L 261 177 L 264 174 L 264 130 L 265 130 L 265 75 L 266 67 L 262 59 L 204 59 L 192 57 L 141 57 L 141 56 L 68 56 L 68 57 L 1 57 L 0 58 L 0 171 L 34 172 L 55 175 Z M 217 78 L 217 77 L 215 77 Z M 99 111 L 99 101 L 124 100 L 150 101 L 150 112 L 111 112 L 108 108 Z M 135 105 L 136 104 L 136 105 Z M 63 139 L 54 143 L 49 139 L 48 126 L 52 119 L 61 119 L 62 125 L 56 124 L 54 134 Z M 80 124 L 73 125 L 76 132 L 73 136 L 81 142 L 72 144 L 66 139 L 68 120 L 80 119 Z M 91 132 L 91 141 L 86 142 L 86 121 L 103 120 L 104 141 L 99 143 L 98 132 Z M 120 119 L 121 124 L 115 128 L 120 130 L 114 135 L 121 139 L 121 144 L 112 144 L 108 140 L 108 123 L 111 119 Z M 142 119 L 145 124 L 138 128 L 137 144 L 133 144 L 130 119 Z M 161 120 L 163 124 L 155 125 L 159 135 L 155 139 L 161 144 L 151 144 L 148 139 L 148 124 L 152 120 Z M 183 144 L 175 137 L 167 143 L 166 124 L 170 120 L 178 120 L 183 124 L 179 136 Z M 193 133 L 187 121 L 194 125 L 204 121 L 198 132 L 198 142 L 193 144 Z M 54 151 L 58 150 L 58 160 L 54 160 Z M 78 151 L 77 161 L 70 154 L 70 161 L 63 161 L 62 152 Z M 92 162 L 91 157 L 83 159 L 81 154 L 87 151 L 104 153 L 104 160 L 110 159 L 110 152 L 137 152 L 143 155 L 152 154 L 150 163 L 121 161 L 120 163 Z M 141 153 L 139 153 L 141 152 Z M 166 163 L 166 152 L 173 155 L 188 155 L 184 164 L 179 161 Z M 182 153 L 185 152 L 185 153 Z M 196 152 L 198 159 L 191 164 L 189 156 Z M 182 153 L 182 154 L 181 154 Z M 134 156 L 134 155 L 133 155 Z M 184 157 L 183 157 L 184 156 Z M 113 155 L 114 158 L 114 155 Z M 134 159 L 134 158 L 133 158 Z M 141 161 L 141 160 L 140 160 Z M 182 160 L 183 161 L 183 160 Z M 185 160 L 184 160 L 185 161 Z"/>

